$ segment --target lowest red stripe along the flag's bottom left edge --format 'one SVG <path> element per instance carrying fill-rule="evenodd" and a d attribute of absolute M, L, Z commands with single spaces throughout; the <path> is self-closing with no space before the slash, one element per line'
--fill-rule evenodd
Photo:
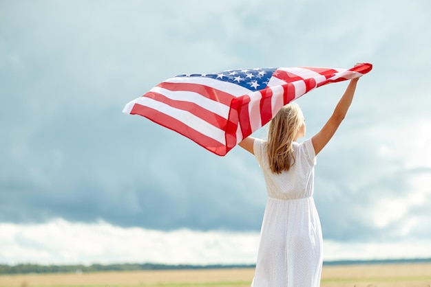
<path fill-rule="evenodd" d="M 198 145 L 206 148 L 210 152 L 223 156 L 227 153 L 226 146 L 222 145 L 222 143 L 215 141 L 211 137 L 207 137 L 207 135 L 203 135 L 199 133 L 197 130 L 194 130 L 187 124 L 178 121 L 174 117 L 166 115 L 165 113 L 160 113 L 160 111 L 155 110 L 154 108 L 149 108 L 147 106 L 143 106 L 140 104 L 134 104 L 132 111 L 130 111 L 131 115 L 141 115 L 143 117 L 147 117 L 152 122 L 156 124 L 160 124 L 165 128 L 169 128 L 174 130 L 175 132 L 188 137 L 192 141 L 198 143 Z"/>

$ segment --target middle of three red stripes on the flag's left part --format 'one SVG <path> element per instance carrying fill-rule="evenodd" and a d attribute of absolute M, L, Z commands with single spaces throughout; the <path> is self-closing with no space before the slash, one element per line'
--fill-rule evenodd
<path fill-rule="evenodd" d="M 146 93 L 145 95 L 143 95 L 143 97 L 149 97 L 158 102 L 162 102 L 163 104 L 167 104 L 172 108 L 178 108 L 182 111 L 187 111 L 189 113 L 192 113 L 193 115 L 196 115 L 196 117 L 199 117 L 200 119 L 203 119 L 205 122 L 208 122 L 213 126 L 217 126 L 222 130 L 226 128 L 227 119 L 211 111 L 208 111 L 206 108 L 202 108 L 202 106 L 199 106 L 198 104 L 195 104 L 193 102 L 172 100 L 172 99 L 169 99 L 169 97 L 165 97 L 165 95 L 152 92 L 152 91 Z"/>

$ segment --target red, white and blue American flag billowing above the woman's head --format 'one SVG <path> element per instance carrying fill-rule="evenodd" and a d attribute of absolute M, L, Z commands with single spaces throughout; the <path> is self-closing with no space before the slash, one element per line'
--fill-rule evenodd
<path fill-rule="evenodd" d="M 323 67 L 234 69 L 169 78 L 126 104 L 141 115 L 224 156 L 268 123 L 282 106 L 331 82 L 357 78 L 372 69 Z"/>

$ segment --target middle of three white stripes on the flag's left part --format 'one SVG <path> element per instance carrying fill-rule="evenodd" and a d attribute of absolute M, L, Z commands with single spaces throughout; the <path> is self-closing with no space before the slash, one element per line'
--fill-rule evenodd
<path fill-rule="evenodd" d="M 220 117 L 224 117 L 225 119 L 229 116 L 229 106 L 210 100 L 209 98 L 200 95 L 200 93 L 190 91 L 169 91 L 160 87 L 154 87 L 150 91 L 165 95 L 171 100 L 197 104 L 198 106 L 202 106 L 202 108 L 220 115 Z"/>

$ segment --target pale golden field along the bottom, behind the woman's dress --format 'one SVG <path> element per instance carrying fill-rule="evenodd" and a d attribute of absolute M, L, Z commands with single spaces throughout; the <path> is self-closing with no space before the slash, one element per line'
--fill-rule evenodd
<path fill-rule="evenodd" d="M 1 287 L 246 287 L 253 268 L 1 275 Z M 431 264 L 324 266 L 321 287 L 431 287 Z M 306 286 L 304 286 L 306 287 Z"/>

